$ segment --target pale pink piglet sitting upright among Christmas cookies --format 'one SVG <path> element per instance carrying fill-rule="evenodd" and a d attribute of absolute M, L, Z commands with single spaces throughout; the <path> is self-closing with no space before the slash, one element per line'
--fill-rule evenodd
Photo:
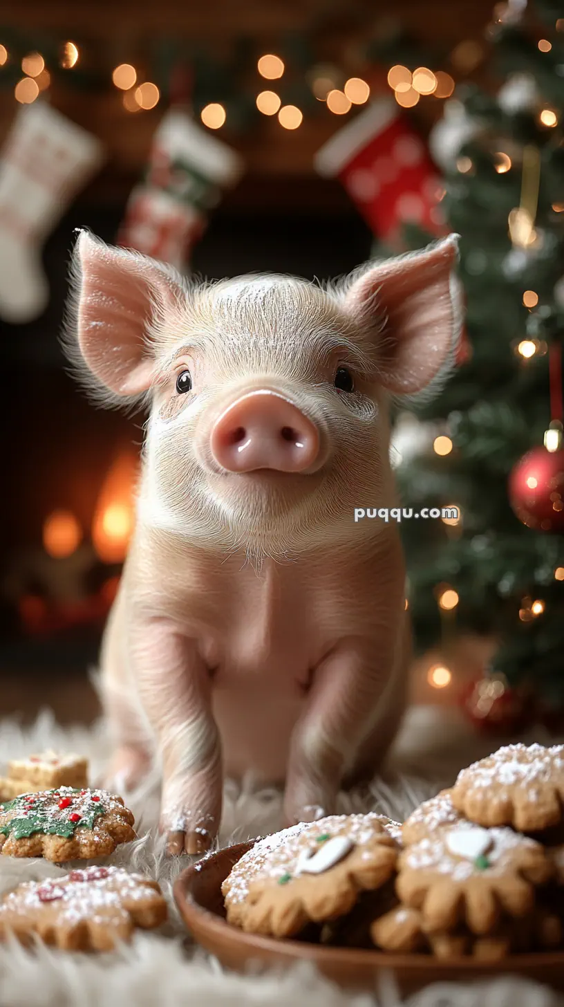
<path fill-rule="evenodd" d="M 452 366 L 457 237 L 318 286 L 195 282 L 79 235 L 67 350 L 148 410 L 136 525 L 102 655 L 110 777 L 162 764 L 170 854 L 217 835 L 225 774 L 285 779 L 287 823 L 370 775 L 410 633 L 389 403 Z M 110 780 L 108 780 L 109 782 Z"/>

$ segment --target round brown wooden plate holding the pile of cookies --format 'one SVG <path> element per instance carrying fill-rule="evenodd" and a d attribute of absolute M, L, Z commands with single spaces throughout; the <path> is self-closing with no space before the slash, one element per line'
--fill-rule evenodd
<path fill-rule="evenodd" d="M 434 982 L 463 982 L 502 974 L 535 979 L 564 990 L 564 952 L 512 955 L 502 963 L 456 958 L 437 962 L 430 955 L 388 955 L 350 948 L 323 948 L 299 941 L 277 940 L 245 933 L 226 921 L 222 882 L 253 843 L 240 843 L 200 860 L 176 879 L 174 898 L 193 938 L 220 962 L 236 972 L 257 964 L 290 968 L 298 961 L 312 962 L 328 979 L 346 989 L 374 992 L 378 975 L 392 969 L 405 996 Z"/>

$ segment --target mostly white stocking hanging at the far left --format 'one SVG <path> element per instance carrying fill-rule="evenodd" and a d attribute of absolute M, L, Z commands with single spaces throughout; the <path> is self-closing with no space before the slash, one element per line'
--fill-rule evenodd
<path fill-rule="evenodd" d="M 45 102 L 19 109 L 0 154 L 0 316 L 45 308 L 43 239 L 103 160 L 102 144 Z"/>

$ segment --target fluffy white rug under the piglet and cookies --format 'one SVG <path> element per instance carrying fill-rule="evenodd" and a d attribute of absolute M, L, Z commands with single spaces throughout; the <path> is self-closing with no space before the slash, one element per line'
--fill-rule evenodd
<path fill-rule="evenodd" d="M 535 732 L 534 739 L 543 741 Z M 533 738 L 531 738 L 533 740 Z M 104 766 L 108 746 L 104 725 L 61 728 L 50 713 L 42 713 L 29 728 L 15 720 L 0 726 L 0 761 L 46 747 L 83 752 L 91 760 L 93 778 Z M 341 795 L 339 811 L 376 810 L 402 820 L 419 801 L 452 782 L 458 769 L 492 748 L 491 739 L 477 739 L 458 717 L 415 708 L 408 715 L 385 778 L 364 792 Z M 131 946 L 111 955 L 61 953 L 38 946 L 24 950 L 14 943 L 0 947 L 2 1007 L 399 1007 L 392 975 L 385 975 L 373 995 L 347 995 L 308 968 L 284 975 L 237 976 L 186 940 L 171 896 L 182 858 L 163 856 L 156 830 L 158 780 L 147 780 L 129 795 L 140 838 L 118 849 L 113 863 L 127 864 L 157 877 L 169 899 L 170 919 L 158 934 L 138 933 Z M 280 828 L 280 794 L 257 788 L 252 780 L 241 786 L 226 783 L 222 846 L 242 842 Z M 66 869 L 66 868 L 65 868 Z M 42 860 L 0 857 L 0 890 L 19 881 L 64 873 Z M 405 1002 L 409 1007 L 556 1007 L 564 998 L 545 987 L 511 976 L 477 985 L 434 984 Z"/>

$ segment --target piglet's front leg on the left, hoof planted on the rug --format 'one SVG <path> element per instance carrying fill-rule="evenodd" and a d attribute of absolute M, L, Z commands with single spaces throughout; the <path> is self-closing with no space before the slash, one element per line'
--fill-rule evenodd
<path fill-rule="evenodd" d="M 167 853 L 203 853 L 222 816 L 222 751 L 209 672 L 194 640 L 166 619 L 133 631 L 139 695 L 162 756 L 159 828 Z"/>

